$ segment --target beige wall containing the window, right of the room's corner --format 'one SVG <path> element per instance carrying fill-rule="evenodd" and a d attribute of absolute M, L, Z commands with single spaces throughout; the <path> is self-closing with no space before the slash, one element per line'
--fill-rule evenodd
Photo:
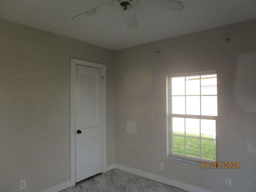
<path fill-rule="evenodd" d="M 116 163 L 213 192 L 254 191 L 255 36 L 251 20 L 116 51 Z M 166 158 L 166 75 L 212 70 L 218 74 L 218 161 L 240 162 L 239 169 L 201 169 Z"/>

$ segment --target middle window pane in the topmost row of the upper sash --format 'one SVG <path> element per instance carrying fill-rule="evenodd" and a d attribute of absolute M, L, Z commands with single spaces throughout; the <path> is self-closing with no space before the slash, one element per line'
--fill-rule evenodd
<path fill-rule="evenodd" d="M 186 77 L 186 95 L 200 95 L 200 76 Z"/>

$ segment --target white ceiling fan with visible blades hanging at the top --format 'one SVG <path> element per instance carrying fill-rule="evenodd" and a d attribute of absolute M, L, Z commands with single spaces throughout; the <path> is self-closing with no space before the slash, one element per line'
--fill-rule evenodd
<path fill-rule="evenodd" d="M 166 9 L 170 11 L 181 11 L 183 9 L 182 2 L 173 0 L 135 0 L 138 4 L 150 7 L 156 7 L 160 9 Z M 120 2 L 120 5 L 124 11 L 124 20 L 128 29 L 133 29 L 138 26 L 137 18 L 134 12 L 134 8 L 130 5 L 132 0 L 115 0 L 102 4 L 96 8 L 88 10 L 82 14 L 73 17 L 74 21 L 82 20 L 88 16 L 91 16 L 105 8 L 113 6 L 116 2 Z"/>

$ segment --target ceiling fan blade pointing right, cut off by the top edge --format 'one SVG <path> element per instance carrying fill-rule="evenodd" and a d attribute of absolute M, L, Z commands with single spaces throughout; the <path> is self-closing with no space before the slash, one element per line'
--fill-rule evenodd
<path fill-rule="evenodd" d="M 184 8 L 182 2 L 172 0 L 140 0 L 140 4 L 170 11 L 181 11 Z"/>

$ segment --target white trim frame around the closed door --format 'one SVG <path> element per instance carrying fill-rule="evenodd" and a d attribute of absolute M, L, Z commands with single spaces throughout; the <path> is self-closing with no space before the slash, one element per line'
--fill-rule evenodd
<path fill-rule="evenodd" d="M 70 180 L 71 186 L 76 184 L 76 122 L 75 122 L 75 83 L 76 83 L 76 65 L 93 67 L 102 70 L 103 77 L 103 169 L 106 172 L 106 65 L 71 58 L 71 99 L 70 99 Z"/>

